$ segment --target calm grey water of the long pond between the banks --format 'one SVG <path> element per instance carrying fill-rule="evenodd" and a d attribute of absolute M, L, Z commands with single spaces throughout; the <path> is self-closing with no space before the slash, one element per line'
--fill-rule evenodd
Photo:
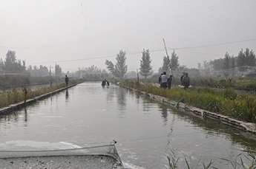
<path fill-rule="evenodd" d="M 180 157 L 178 168 L 186 168 L 184 157 L 191 166 L 212 159 L 216 168 L 232 168 L 219 158 L 256 150 L 254 134 L 100 82 L 81 83 L 0 117 L 1 150 L 88 147 L 113 139 L 126 168 L 166 168 L 171 151 Z"/>

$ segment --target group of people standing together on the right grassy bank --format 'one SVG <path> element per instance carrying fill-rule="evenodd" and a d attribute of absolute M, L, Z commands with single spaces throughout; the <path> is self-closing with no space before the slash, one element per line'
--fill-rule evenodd
<path fill-rule="evenodd" d="M 166 72 L 163 72 L 159 79 L 158 82 L 160 83 L 160 87 L 163 89 L 166 89 L 168 87 L 168 89 L 171 89 L 171 81 L 172 81 L 172 75 L 170 75 L 170 77 L 168 77 L 166 75 Z M 188 77 L 188 73 L 183 72 L 183 75 L 180 77 L 180 86 L 184 86 L 184 89 L 188 89 L 188 86 L 190 85 L 190 79 Z"/>

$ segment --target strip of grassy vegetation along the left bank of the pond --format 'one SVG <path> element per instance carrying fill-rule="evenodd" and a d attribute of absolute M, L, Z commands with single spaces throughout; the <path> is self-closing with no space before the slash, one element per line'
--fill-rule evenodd
<path fill-rule="evenodd" d="M 79 80 L 72 80 L 69 85 L 79 83 Z M 0 92 L 0 108 L 8 106 L 13 103 L 26 102 L 27 99 L 34 97 L 39 97 L 42 94 L 56 91 L 57 89 L 62 89 L 66 85 L 65 83 L 60 83 L 53 86 L 44 86 L 42 88 L 31 90 L 24 88 L 13 88 L 11 90 L 2 89 Z"/>

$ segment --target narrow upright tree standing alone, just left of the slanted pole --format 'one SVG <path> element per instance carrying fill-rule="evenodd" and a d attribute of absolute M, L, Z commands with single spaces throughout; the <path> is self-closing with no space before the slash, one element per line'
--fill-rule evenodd
<path fill-rule="evenodd" d="M 149 49 L 146 51 L 143 49 L 142 59 L 140 60 L 140 74 L 145 78 L 153 74 Z"/>

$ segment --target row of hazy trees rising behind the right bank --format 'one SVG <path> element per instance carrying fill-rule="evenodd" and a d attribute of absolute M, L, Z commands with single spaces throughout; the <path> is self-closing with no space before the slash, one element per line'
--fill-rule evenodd
<path fill-rule="evenodd" d="M 125 64 L 126 61 L 126 52 L 122 49 L 116 55 L 116 63 L 106 60 L 105 65 L 112 75 L 115 77 L 123 78 L 127 72 L 128 66 Z M 214 61 L 203 61 L 203 65 L 198 63 L 198 69 L 188 69 L 186 65 L 180 65 L 179 56 L 175 51 L 171 53 L 171 58 L 163 56 L 163 65 L 158 69 L 158 73 L 166 72 L 168 75 L 171 74 L 171 70 L 174 72 L 196 72 L 198 74 L 201 72 L 202 75 L 210 75 L 209 72 L 222 71 L 227 69 L 237 69 L 240 72 L 247 72 L 248 68 L 255 70 L 256 58 L 255 52 L 246 48 L 243 52 L 243 49 L 240 50 L 236 57 L 230 56 L 228 52 L 224 55 L 224 58 L 215 59 Z M 142 51 L 142 58 L 140 60 L 140 75 L 145 78 L 153 74 L 151 66 L 151 57 L 149 49 Z"/>

